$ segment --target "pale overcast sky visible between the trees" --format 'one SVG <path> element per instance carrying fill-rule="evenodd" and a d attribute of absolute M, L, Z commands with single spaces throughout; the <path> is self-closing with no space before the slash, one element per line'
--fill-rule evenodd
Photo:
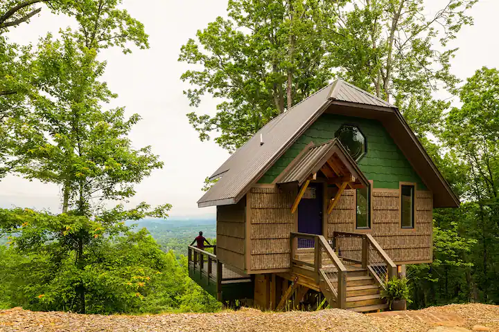
<path fill-rule="evenodd" d="M 427 10 L 434 12 L 447 0 L 430 0 Z M 217 16 L 225 16 L 227 0 L 124 0 L 130 14 L 146 26 L 150 49 L 105 50 L 105 80 L 119 98 L 112 107 L 125 106 L 127 115 L 139 113 L 143 120 L 134 127 L 131 139 L 135 147 L 152 145 L 165 165 L 137 185 L 137 195 L 130 201 L 152 205 L 170 203 L 170 216 L 214 214 L 213 208 L 198 208 L 204 178 L 229 156 L 214 142 L 200 142 L 186 113 L 193 111 L 182 94 L 189 86 L 180 75 L 189 66 L 177 62 L 180 47 L 198 29 L 205 28 Z M 147 5 L 146 5 L 147 3 Z M 452 71 L 463 80 L 482 66 L 499 67 L 499 1 L 480 0 L 471 14 L 475 25 L 465 27 L 450 47 L 459 47 Z M 12 42 L 27 44 L 48 32 L 71 26 L 66 17 L 51 15 L 46 9 L 30 24 L 8 34 Z M 213 114 L 216 101 L 207 97 L 196 110 Z M 0 182 L 0 207 L 12 206 L 60 210 L 59 189 L 37 181 L 8 176 Z"/>

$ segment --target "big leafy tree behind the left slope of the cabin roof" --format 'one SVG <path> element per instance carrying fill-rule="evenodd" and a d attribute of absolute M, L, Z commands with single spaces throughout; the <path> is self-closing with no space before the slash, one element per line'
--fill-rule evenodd
<path fill-rule="evenodd" d="M 201 140 L 234 151 L 264 124 L 326 84 L 333 73 L 325 39 L 335 15 L 328 1 L 229 1 L 197 40 L 182 46 L 179 61 L 200 64 L 182 80 L 191 106 L 205 93 L 222 98 L 216 116 L 189 113 Z"/>

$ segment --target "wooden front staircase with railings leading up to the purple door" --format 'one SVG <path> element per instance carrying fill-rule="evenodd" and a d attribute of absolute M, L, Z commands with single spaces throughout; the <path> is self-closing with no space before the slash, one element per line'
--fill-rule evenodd
<path fill-rule="evenodd" d="M 387 310 L 388 304 L 381 298 L 384 280 L 396 275 L 396 266 L 369 234 L 350 234 L 362 239 L 362 260 L 338 257 L 321 235 L 292 233 L 291 238 L 314 239 L 315 248 L 296 250 L 292 248 L 292 270 L 294 275 L 317 280 L 317 288 L 331 308 L 369 313 Z M 370 253 L 369 253 L 370 252 Z M 369 258 L 370 256 L 370 258 Z M 308 286 L 310 282 L 308 282 Z"/>

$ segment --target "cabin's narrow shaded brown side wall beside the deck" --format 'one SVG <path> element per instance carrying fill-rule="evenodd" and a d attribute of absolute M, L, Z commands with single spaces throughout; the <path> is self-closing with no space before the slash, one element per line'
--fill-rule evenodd
<path fill-rule="evenodd" d="M 217 206 L 217 257 L 223 263 L 244 270 L 245 200 Z"/>

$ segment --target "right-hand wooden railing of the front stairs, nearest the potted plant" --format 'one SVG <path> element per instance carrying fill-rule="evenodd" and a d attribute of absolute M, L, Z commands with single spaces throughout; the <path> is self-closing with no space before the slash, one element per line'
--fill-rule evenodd
<path fill-rule="evenodd" d="M 371 234 L 333 232 L 332 240 L 333 249 L 339 252 L 340 259 L 369 270 L 381 287 L 385 288 L 385 282 L 396 277 L 396 265 Z M 361 246 L 358 246 L 359 242 Z"/>

